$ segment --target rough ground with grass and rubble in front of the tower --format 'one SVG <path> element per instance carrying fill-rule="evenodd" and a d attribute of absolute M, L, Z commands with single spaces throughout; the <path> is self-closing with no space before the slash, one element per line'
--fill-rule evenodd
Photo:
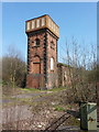
<path fill-rule="evenodd" d="M 3 87 L 2 102 L 3 130 L 79 130 L 79 106 L 67 101 L 66 88 Z"/>

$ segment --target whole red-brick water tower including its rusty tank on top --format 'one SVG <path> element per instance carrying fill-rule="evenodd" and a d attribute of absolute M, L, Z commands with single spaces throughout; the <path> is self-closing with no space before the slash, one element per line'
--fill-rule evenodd
<path fill-rule="evenodd" d="M 28 76 L 26 87 L 50 89 L 57 85 L 58 25 L 42 15 L 26 21 Z"/>

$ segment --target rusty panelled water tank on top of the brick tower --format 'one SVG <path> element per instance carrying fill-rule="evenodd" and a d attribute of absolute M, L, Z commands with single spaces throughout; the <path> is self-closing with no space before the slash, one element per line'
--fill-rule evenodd
<path fill-rule="evenodd" d="M 28 20 L 25 23 L 26 33 L 37 31 L 41 29 L 48 29 L 57 37 L 59 37 L 59 26 L 52 20 L 52 18 L 48 14 Z"/>

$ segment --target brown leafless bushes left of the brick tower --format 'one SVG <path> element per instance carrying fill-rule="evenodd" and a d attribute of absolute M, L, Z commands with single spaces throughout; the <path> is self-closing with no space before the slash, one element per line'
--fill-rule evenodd
<path fill-rule="evenodd" d="M 25 87 L 26 65 L 14 48 L 2 57 L 2 85 Z"/>

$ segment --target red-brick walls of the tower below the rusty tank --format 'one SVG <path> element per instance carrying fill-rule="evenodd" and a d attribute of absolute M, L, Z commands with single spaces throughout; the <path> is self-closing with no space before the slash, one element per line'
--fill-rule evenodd
<path fill-rule="evenodd" d="M 40 46 L 35 46 L 36 38 Z M 54 70 L 51 70 L 51 57 L 54 58 Z M 46 29 L 28 33 L 26 87 L 53 88 L 57 85 L 56 77 L 57 37 Z"/>

